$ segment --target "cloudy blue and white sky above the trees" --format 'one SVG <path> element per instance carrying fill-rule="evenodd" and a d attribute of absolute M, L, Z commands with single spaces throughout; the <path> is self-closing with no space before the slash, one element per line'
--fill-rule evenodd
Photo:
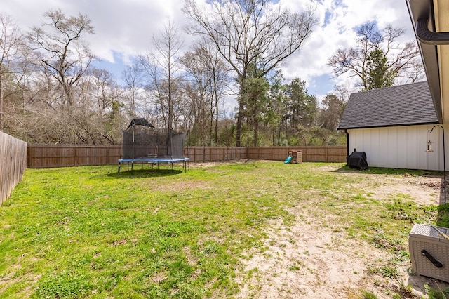
<path fill-rule="evenodd" d="M 206 1 L 206 0 L 197 0 Z M 91 19 L 95 34 L 87 36 L 91 50 L 120 80 L 130 58 L 152 50 L 153 36 L 159 36 L 164 22 L 173 20 L 180 33 L 189 20 L 182 13 L 183 0 L 0 0 L 1 12 L 9 15 L 23 31 L 39 26 L 43 13 L 60 8 L 66 16 L 81 13 Z M 288 81 L 300 78 L 307 91 L 321 101 L 335 85 L 350 86 L 348 77 L 335 78 L 327 62 L 339 48 L 355 46 L 354 28 L 368 21 L 378 27 L 391 24 L 406 33 L 400 42 L 415 35 L 406 0 L 279 0 L 278 5 L 300 12 L 305 5 L 316 9 L 318 24 L 309 39 L 282 65 Z M 185 34 L 186 48 L 194 39 Z M 187 48 L 188 50 L 188 48 Z"/>

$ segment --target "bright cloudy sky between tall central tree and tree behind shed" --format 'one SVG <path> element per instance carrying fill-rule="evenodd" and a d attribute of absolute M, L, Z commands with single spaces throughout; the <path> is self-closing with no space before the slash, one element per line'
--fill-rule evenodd
<path fill-rule="evenodd" d="M 299 12 L 304 1 L 281 1 L 291 11 Z M 319 25 L 306 44 L 295 54 L 283 69 L 288 79 L 300 77 L 307 81 L 309 93 L 322 99 L 335 85 L 347 86 L 354 78 L 334 78 L 327 62 L 338 48 L 356 46 L 354 28 L 365 22 L 375 21 L 380 28 L 387 24 L 406 29 L 400 42 L 415 39 L 413 28 L 404 1 L 397 0 L 319 0 L 314 1 Z M 327 77 L 327 81 L 325 80 Z"/>

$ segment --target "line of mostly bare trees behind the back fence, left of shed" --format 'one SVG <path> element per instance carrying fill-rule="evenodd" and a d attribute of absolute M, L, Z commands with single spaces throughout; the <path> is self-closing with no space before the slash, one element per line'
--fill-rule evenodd
<path fill-rule="evenodd" d="M 27 142 L 119 144 L 130 119 L 189 130 L 192 145 L 322 145 L 335 132 L 349 94 L 337 88 L 322 107 L 306 82 L 279 67 L 311 35 L 312 8 L 291 13 L 268 0 L 185 0 L 198 37 L 185 51 L 181 29 L 167 20 L 154 48 L 141 53 L 119 84 L 97 60 L 87 15 L 47 11 L 22 32 L 0 15 L 0 130 Z M 225 109 L 235 97 L 235 118 Z"/>

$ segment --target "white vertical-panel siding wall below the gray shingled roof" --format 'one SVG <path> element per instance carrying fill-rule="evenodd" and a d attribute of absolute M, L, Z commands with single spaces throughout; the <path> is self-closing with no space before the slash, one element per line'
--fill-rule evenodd
<path fill-rule="evenodd" d="M 427 169 L 443 171 L 443 130 L 431 130 L 433 125 L 397 126 L 388 128 L 349 129 L 349 152 L 356 149 L 366 152 L 368 166 L 386 168 Z M 446 153 L 448 153 L 449 126 L 445 131 Z M 427 141 L 432 141 L 432 150 L 426 152 Z M 446 157 L 449 169 L 449 156 Z"/>

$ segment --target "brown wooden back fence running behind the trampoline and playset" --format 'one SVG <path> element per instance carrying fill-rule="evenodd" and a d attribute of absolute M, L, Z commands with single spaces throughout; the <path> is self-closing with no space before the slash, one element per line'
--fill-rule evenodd
<path fill-rule="evenodd" d="M 299 150 L 302 161 L 344 162 L 345 146 L 327 147 L 185 147 L 191 162 L 239 159 L 283 161 L 288 152 Z M 27 166 L 50 168 L 117 164 L 121 145 L 28 145 Z"/>

